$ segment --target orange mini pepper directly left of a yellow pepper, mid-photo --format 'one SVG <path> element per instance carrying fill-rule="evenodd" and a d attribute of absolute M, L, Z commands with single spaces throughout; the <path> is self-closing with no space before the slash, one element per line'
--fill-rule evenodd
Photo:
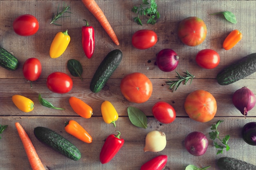
<path fill-rule="evenodd" d="M 92 117 L 92 108 L 81 99 L 76 97 L 70 97 L 69 103 L 76 114 L 80 115 L 85 119 L 89 119 L 90 117 Z"/>

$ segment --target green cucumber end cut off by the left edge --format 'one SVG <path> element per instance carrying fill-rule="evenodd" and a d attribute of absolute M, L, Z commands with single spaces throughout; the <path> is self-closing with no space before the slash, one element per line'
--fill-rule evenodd
<path fill-rule="evenodd" d="M 7 70 L 14 71 L 18 68 L 18 59 L 9 53 L 6 49 L 0 47 L 0 66 Z"/>

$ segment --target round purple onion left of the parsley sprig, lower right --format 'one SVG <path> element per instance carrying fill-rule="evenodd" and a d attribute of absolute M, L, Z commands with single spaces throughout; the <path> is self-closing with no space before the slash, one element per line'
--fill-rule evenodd
<path fill-rule="evenodd" d="M 208 148 L 208 139 L 202 132 L 191 132 L 185 139 L 185 147 L 191 155 L 204 155 Z"/>

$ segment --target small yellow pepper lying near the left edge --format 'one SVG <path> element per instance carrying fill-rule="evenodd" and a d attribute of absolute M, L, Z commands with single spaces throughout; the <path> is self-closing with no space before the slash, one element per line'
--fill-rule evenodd
<path fill-rule="evenodd" d="M 34 102 L 22 95 L 13 95 L 12 102 L 23 112 L 31 112 L 34 109 Z"/>

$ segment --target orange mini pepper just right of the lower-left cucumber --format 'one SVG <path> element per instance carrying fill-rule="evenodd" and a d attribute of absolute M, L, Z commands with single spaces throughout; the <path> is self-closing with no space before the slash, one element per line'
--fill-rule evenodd
<path fill-rule="evenodd" d="M 89 135 L 89 133 L 74 120 L 65 122 L 65 131 L 81 141 L 88 144 L 92 143 L 91 135 Z"/>

